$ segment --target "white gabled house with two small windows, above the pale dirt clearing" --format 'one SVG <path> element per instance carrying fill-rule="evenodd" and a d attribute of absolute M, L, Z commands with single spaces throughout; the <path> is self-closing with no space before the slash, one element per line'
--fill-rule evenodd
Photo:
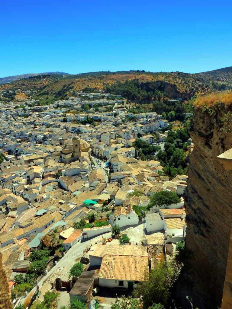
<path fill-rule="evenodd" d="M 111 225 L 118 224 L 120 227 L 127 225 L 132 226 L 139 224 L 139 217 L 131 206 L 119 206 L 115 207 L 114 215 L 110 216 L 109 222 Z"/>

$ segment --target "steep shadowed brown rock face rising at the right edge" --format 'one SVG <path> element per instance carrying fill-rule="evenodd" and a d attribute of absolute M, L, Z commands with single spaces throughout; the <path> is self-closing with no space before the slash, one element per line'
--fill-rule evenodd
<path fill-rule="evenodd" d="M 212 109 L 195 106 L 189 155 L 188 186 L 184 193 L 187 212 L 187 249 L 194 290 L 206 308 L 221 306 L 232 224 L 232 171 L 217 156 L 232 148 L 232 134 L 221 117 L 230 104 Z"/>

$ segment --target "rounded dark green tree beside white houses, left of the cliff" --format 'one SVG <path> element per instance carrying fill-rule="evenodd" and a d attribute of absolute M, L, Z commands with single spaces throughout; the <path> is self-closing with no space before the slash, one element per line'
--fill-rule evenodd
<path fill-rule="evenodd" d="M 149 207 L 155 206 L 159 208 L 164 206 L 165 208 L 168 208 L 170 205 L 177 204 L 179 202 L 180 202 L 180 198 L 175 192 L 163 190 L 163 191 L 155 193 L 151 197 L 150 203 L 148 206 Z"/>

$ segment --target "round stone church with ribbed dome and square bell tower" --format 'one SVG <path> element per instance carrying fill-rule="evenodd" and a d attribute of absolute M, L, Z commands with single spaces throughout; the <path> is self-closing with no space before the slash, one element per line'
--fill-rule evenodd
<path fill-rule="evenodd" d="M 90 145 L 83 139 L 75 136 L 64 143 L 61 150 L 61 157 L 63 163 L 70 163 L 79 159 L 79 157 L 91 156 Z"/>

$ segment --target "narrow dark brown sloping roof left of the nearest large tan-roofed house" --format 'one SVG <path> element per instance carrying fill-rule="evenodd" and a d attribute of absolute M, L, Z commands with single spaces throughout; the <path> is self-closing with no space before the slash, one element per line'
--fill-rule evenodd
<path fill-rule="evenodd" d="M 69 294 L 86 296 L 92 286 L 94 279 L 98 278 L 99 271 L 99 266 L 86 266 L 83 273 L 77 279 Z"/>

